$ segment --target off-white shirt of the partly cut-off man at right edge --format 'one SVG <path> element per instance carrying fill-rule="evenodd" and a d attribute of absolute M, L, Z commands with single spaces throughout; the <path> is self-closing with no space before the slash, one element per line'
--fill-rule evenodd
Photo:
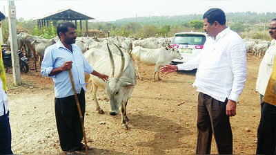
<path fill-rule="evenodd" d="M 261 95 L 266 92 L 266 86 L 272 73 L 273 62 L 276 55 L 276 41 L 273 39 L 268 50 L 264 54 L 261 64 L 259 64 L 259 73 L 256 82 L 256 91 Z"/>

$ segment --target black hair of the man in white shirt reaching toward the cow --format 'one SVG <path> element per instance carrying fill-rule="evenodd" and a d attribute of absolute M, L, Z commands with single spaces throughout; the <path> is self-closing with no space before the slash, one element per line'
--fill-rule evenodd
<path fill-rule="evenodd" d="M 219 8 L 210 8 L 204 13 L 203 19 L 207 19 L 210 25 L 213 25 L 215 21 L 219 22 L 221 25 L 226 23 L 225 13 Z"/>

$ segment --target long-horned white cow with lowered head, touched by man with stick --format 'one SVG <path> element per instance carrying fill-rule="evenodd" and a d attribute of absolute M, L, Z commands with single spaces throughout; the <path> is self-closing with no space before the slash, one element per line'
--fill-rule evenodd
<path fill-rule="evenodd" d="M 120 55 L 112 55 L 109 46 L 106 49 L 93 48 L 83 54 L 93 69 L 110 75 L 108 82 L 103 82 L 103 80 L 100 80 L 96 76 L 86 74 L 86 83 L 88 83 L 89 79 L 92 82 L 92 97 L 96 102 L 97 111 L 101 114 L 104 113 L 101 107 L 99 107 L 96 97 L 97 89 L 101 87 L 106 89 L 106 93 L 110 99 L 110 115 L 115 116 L 121 110 L 122 126 L 129 129 L 126 124 L 126 121 L 128 121 L 126 105 L 137 80 L 130 55 L 123 53 L 118 46 L 116 47 L 119 49 Z"/>

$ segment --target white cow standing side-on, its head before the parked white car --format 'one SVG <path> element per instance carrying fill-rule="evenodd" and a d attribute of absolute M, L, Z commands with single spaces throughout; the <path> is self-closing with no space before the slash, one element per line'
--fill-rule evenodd
<path fill-rule="evenodd" d="M 155 75 L 157 73 L 158 80 L 160 79 L 160 67 L 170 64 L 174 59 L 181 60 L 182 57 L 179 51 L 166 50 L 165 48 L 148 49 L 141 46 L 135 46 L 132 50 L 132 57 L 135 60 L 135 71 L 138 78 L 141 79 L 139 73 L 139 62 L 143 62 L 147 65 L 155 65 L 155 73 L 153 75 L 153 81 L 155 81 Z"/>

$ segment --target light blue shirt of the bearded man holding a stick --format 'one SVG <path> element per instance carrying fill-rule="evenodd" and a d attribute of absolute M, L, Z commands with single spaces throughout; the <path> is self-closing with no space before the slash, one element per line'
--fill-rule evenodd
<path fill-rule="evenodd" d="M 94 69 L 88 64 L 86 58 L 83 57 L 81 49 L 76 44 L 72 44 L 71 46 L 72 52 L 60 41 L 46 48 L 41 64 L 41 75 L 49 77 L 52 69 L 58 68 L 62 66 L 64 62 L 72 60 L 72 78 L 77 93 L 80 93 L 81 89 L 86 91 L 84 72 L 92 73 Z M 62 71 L 57 75 L 50 76 L 50 78 L 52 78 L 55 83 L 56 98 L 65 98 L 69 95 L 74 95 L 68 71 Z"/>

